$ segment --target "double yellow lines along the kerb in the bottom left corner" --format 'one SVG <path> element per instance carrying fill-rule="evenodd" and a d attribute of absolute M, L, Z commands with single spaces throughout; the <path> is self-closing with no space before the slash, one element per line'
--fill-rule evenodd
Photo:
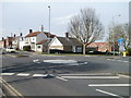
<path fill-rule="evenodd" d="M 12 93 L 14 96 L 21 96 L 21 98 L 24 98 L 22 94 L 20 94 L 16 89 L 14 89 L 10 84 L 8 84 L 3 78 L 0 78 L 3 83 L 3 85 Z"/>

